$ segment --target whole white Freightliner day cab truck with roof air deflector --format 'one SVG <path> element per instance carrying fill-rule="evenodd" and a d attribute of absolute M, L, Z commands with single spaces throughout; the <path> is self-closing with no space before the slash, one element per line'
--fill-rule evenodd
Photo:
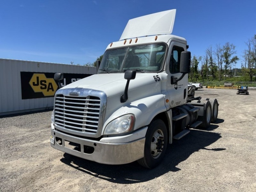
<path fill-rule="evenodd" d="M 53 148 L 102 164 L 154 168 L 173 139 L 216 121 L 216 99 L 188 95 L 190 52 L 184 38 L 170 35 L 175 13 L 129 20 L 98 62 L 98 74 L 55 93 Z"/>

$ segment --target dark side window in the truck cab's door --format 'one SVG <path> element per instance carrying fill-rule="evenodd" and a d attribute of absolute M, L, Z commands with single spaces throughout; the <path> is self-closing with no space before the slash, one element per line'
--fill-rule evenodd
<path fill-rule="evenodd" d="M 180 72 L 180 53 L 183 51 L 184 49 L 182 47 L 173 46 L 169 63 L 169 69 L 171 73 Z"/>

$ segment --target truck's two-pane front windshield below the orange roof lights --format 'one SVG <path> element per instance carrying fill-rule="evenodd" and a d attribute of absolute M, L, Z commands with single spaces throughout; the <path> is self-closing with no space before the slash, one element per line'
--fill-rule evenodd
<path fill-rule="evenodd" d="M 132 69 L 142 73 L 159 71 L 165 50 L 164 44 L 109 49 L 104 53 L 98 73 L 123 73 Z"/>

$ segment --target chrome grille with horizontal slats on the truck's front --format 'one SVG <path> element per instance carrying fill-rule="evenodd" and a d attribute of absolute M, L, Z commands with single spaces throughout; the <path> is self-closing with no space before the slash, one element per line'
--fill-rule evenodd
<path fill-rule="evenodd" d="M 84 133 L 97 133 L 100 98 L 56 95 L 54 121 L 60 128 Z"/>

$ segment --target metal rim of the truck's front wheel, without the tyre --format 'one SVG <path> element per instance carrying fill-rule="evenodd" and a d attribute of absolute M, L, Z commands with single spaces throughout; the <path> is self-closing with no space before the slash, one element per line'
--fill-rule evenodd
<path fill-rule="evenodd" d="M 151 155 L 157 159 L 163 152 L 164 148 L 164 132 L 161 129 L 157 129 L 151 139 Z"/>

